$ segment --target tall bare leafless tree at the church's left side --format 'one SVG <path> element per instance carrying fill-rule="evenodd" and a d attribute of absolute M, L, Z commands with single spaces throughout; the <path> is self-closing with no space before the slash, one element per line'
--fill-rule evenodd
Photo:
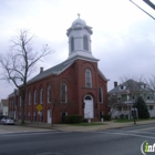
<path fill-rule="evenodd" d="M 24 124 L 24 104 L 27 95 L 27 83 L 30 75 L 35 71 L 37 63 L 52 51 L 43 45 L 40 52 L 34 51 L 32 39 L 28 30 L 20 30 L 18 35 L 11 40 L 12 45 L 6 55 L 0 56 L 3 69 L 3 80 L 12 82 L 21 96 L 21 124 Z"/>

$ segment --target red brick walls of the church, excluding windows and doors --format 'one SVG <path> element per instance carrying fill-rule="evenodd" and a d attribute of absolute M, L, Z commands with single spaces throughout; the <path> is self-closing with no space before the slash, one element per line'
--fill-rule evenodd
<path fill-rule="evenodd" d="M 92 87 L 85 87 L 85 70 L 90 69 L 92 72 Z M 25 104 L 25 118 L 28 120 L 28 114 L 31 112 L 31 121 L 33 121 L 33 112 L 37 112 L 37 105 L 40 104 L 40 89 L 43 87 L 43 122 L 46 122 L 46 111 L 53 108 L 53 103 L 59 97 L 60 84 L 61 82 L 66 83 L 68 85 L 68 102 L 56 104 L 54 108 L 53 122 L 61 121 L 61 112 L 66 110 L 68 114 L 80 114 L 83 115 L 83 101 L 86 94 L 93 96 L 94 101 L 94 116 L 99 117 L 99 112 L 102 110 L 106 113 L 105 102 L 106 102 L 106 81 L 104 81 L 97 71 L 96 62 L 89 62 L 84 60 L 75 60 L 75 62 L 63 71 L 60 75 L 51 75 L 38 82 L 31 83 L 28 85 L 27 93 L 27 104 Z M 48 104 L 48 85 L 52 85 L 52 104 Z M 103 103 L 99 103 L 99 86 L 103 87 Z M 33 104 L 33 92 L 38 91 L 38 104 Z M 29 91 L 31 91 L 31 105 L 29 105 Z M 11 108 L 9 108 L 11 111 Z M 19 106 L 19 112 L 21 106 Z M 39 117 L 38 117 L 39 118 Z"/>

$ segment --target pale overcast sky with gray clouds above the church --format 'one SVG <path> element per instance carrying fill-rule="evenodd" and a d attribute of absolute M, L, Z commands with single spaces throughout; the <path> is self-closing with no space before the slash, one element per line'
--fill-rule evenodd
<path fill-rule="evenodd" d="M 145 9 L 142 0 L 134 1 Z M 146 9 L 155 16 L 151 8 Z M 155 74 L 155 21 L 130 0 L 0 0 L 0 53 L 9 49 L 9 40 L 18 30 L 28 29 L 37 37 L 37 50 L 49 44 L 55 51 L 39 66 L 46 70 L 61 63 L 69 55 L 66 29 L 78 13 L 93 27 L 92 53 L 110 79 L 108 90 L 122 75 Z M 0 85 L 0 99 L 14 89 L 6 81 Z"/>

